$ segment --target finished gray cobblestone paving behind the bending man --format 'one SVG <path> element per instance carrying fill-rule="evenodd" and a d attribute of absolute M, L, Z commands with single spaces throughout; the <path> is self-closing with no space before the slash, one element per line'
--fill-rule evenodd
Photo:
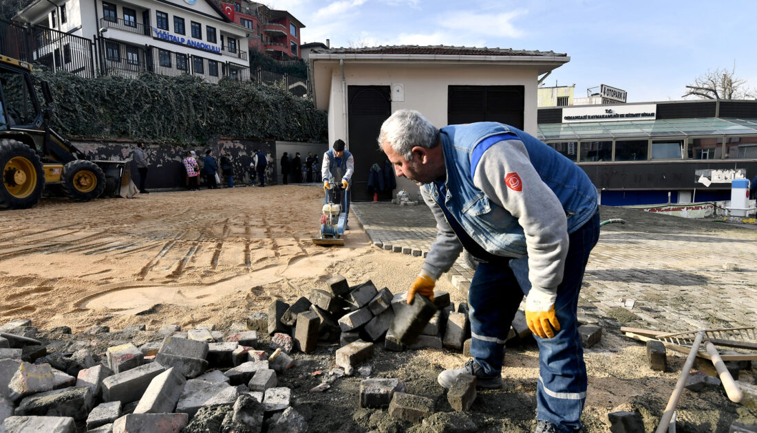
<path fill-rule="evenodd" d="M 436 223 L 423 203 L 354 203 L 351 209 L 380 248 L 425 255 L 435 240 Z M 581 289 L 579 308 L 586 313 L 669 332 L 757 324 L 757 230 L 607 206 L 600 218 L 627 224 L 600 231 Z M 445 274 L 463 292 L 472 275 L 463 255 Z M 625 300 L 633 306 L 624 307 Z"/>

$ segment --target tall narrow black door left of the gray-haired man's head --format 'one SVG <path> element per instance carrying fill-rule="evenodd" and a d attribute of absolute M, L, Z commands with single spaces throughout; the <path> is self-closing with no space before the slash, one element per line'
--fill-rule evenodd
<path fill-rule="evenodd" d="M 391 115 L 388 85 L 350 85 L 347 88 L 347 120 L 350 137 L 350 153 L 355 159 L 352 176 L 352 199 L 369 201 L 368 174 L 371 165 L 378 163 L 384 168 L 386 156 L 378 150 L 378 131 Z M 392 173 L 394 176 L 394 173 Z M 391 191 L 380 193 L 379 199 L 390 199 Z"/>

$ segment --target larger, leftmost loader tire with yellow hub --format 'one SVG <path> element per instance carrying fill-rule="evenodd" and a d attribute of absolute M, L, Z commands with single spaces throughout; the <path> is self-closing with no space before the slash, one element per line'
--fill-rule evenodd
<path fill-rule="evenodd" d="M 0 209 L 27 209 L 39 202 L 45 172 L 36 152 L 20 141 L 0 140 Z"/>

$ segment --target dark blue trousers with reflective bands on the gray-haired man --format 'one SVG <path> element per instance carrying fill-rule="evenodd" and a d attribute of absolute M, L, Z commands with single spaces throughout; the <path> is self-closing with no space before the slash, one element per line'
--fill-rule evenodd
<path fill-rule="evenodd" d="M 560 330 L 551 339 L 534 336 L 539 345 L 536 417 L 552 422 L 565 432 L 581 428 L 579 419 L 586 400 L 586 364 L 576 310 L 584 270 L 599 234 L 600 215 L 597 214 L 569 236 L 565 271 L 555 302 Z M 531 289 L 528 257 L 513 258 L 505 263 L 479 264 L 468 292 L 471 355 L 488 374 L 502 370 L 512 318 L 523 295 L 528 295 Z"/>

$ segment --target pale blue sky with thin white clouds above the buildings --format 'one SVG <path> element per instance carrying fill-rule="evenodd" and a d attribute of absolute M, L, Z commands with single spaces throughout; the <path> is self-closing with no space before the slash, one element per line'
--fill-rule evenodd
<path fill-rule="evenodd" d="M 333 47 L 464 45 L 565 53 L 546 85 L 600 84 L 628 102 L 678 101 L 708 70 L 736 65 L 757 93 L 757 2 L 273 0 L 305 24 L 303 42 Z"/>

